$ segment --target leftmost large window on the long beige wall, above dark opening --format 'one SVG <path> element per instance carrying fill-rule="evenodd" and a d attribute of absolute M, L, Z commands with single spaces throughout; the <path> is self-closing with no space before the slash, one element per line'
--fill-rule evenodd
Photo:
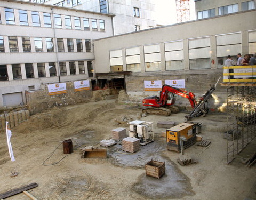
<path fill-rule="evenodd" d="M 111 72 L 123 71 L 122 50 L 109 51 L 110 70 Z"/>

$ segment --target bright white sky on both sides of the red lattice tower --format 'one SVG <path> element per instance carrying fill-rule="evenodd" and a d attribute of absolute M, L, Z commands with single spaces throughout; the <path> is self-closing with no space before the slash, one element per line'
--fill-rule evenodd
<path fill-rule="evenodd" d="M 175 0 L 155 0 L 156 23 L 159 25 L 171 25 L 177 23 Z M 190 20 L 195 20 L 195 1 L 189 1 Z"/>

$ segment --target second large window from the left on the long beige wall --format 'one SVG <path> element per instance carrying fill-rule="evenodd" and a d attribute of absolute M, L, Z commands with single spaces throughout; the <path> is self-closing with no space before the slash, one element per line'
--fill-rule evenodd
<path fill-rule="evenodd" d="M 140 47 L 125 49 L 127 71 L 139 72 L 140 68 Z"/>

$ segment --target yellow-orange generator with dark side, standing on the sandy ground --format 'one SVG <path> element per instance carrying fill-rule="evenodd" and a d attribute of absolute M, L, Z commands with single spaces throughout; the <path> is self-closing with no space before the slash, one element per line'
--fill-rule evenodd
<path fill-rule="evenodd" d="M 167 149 L 180 153 L 196 143 L 196 124 L 182 123 L 166 130 Z"/>

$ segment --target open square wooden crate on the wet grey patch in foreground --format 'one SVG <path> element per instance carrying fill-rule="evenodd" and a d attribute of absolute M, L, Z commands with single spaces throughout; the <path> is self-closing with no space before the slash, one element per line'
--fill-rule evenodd
<path fill-rule="evenodd" d="M 165 163 L 158 161 L 149 161 L 145 165 L 146 175 L 155 178 L 161 178 L 165 174 Z"/>

